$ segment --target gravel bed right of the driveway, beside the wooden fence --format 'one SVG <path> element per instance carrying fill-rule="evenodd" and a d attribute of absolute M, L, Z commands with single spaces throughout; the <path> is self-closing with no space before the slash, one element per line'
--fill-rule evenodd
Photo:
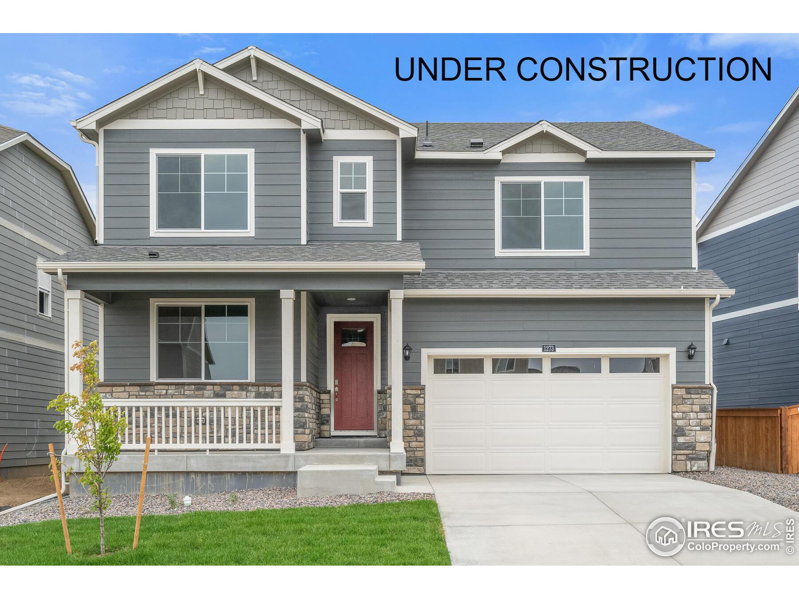
<path fill-rule="evenodd" d="M 674 473 L 695 481 L 711 482 L 714 485 L 729 486 L 730 489 L 748 491 L 753 495 L 768 499 L 769 502 L 799 512 L 799 474 L 775 474 L 757 470 L 741 470 L 731 466 L 718 466 L 714 472 Z"/>

